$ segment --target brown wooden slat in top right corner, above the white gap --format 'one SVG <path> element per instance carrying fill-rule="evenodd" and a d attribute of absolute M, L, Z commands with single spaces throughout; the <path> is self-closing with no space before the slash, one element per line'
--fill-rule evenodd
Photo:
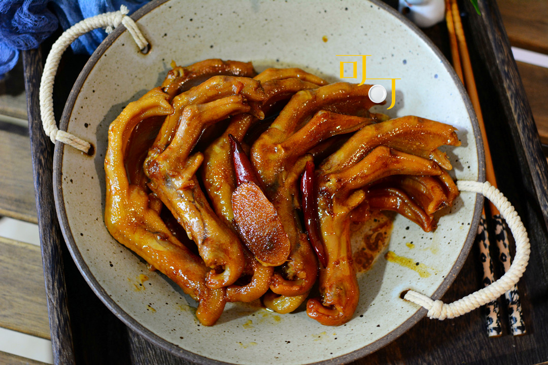
<path fill-rule="evenodd" d="M 510 44 L 548 54 L 548 1 L 498 0 Z"/>

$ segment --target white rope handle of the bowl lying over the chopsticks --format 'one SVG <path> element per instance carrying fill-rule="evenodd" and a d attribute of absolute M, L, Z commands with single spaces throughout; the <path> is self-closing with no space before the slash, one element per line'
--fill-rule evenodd
<path fill-rule="evenodd" d="M 498 189 L 488 182 L 481 183 L 464 180 L 458 181 L 456 186 L 461 191 L 482 194 L 493 202 L 494 206 L 499 209 L 500 215 L 506 219 L 508 228 L 510 228 L 514 240 L 516 241 L 516 256 L 514 257 L 512 265 L 510 265 L 510 269 L 506 271 L 506 274 L 499 280 L 456 302 L 445 304 L 441 300 L 432 300 L 431 298 L 412 290 L 408 291 L 403 297 L 403 299 L 423 306 L 428 310 L 428 317 L 437 318 L 438 320 L 454 318 L 466 314 L 482 305 L 493 302 L 493 300 L 509 291 L 523 275 L 531 251 L 529 237 L 527 236 L 525 227 L 523 227 L 520 216 L 517 215 L 514 207 Z"/>

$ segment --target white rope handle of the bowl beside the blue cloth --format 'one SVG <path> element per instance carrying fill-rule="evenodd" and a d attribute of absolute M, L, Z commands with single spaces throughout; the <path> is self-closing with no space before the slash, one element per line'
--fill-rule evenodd
<path fill-rule="evenodd" d="M 40 113 L 42 117 L 42 126 L 45 134 L 52 138 L 53 143 L 55 143 L 55 141 L 60 141 L 65 144 L 70 144 L 70 146 L 77 148 L 84 153 L 88 153 L 89 148 L 91 147 L 89 142 L 57 128 L 57 123 L 53 115 L 53 83 L 55 82 L 55 73 L 59 67 L 61 55 L 79 36 L 82 36 L 89 31 L 93 31 L 94 29 L 105 27 L 107 28 L 107 33 L 110 33 L 113 28 L 120 24 L 123 24 L 129 31 L 139 49 L 145 49 L 149 45 L 149 42 L 142 35 L 141 31 L 139 31 L 139 28 L 133 19 L 126 15 L 128 14 L 128 11 L 128 8 L 125 5 L 122 5 L 118 11 L 99 14 L 92 16 L 92 18 L 84 19 L 68 28 L 53 44 L 52 50 L 50 50 L 48 57 L 45 60 L 44 72 L 42 73 L 42 80 L 40 82 Z"/>

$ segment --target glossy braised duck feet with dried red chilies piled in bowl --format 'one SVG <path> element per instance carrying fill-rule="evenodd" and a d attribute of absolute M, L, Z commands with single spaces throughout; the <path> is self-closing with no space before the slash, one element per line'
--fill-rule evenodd
<path fill-rule="evenodd" d="M 107 229 L 197 300 L 203 325 L 226 302 L 291 312 L 315 283 L 307 314 L 349 321 L 352 211 L 431 231 L 459 193 L 438 149 L 459 146 L 455 129 L 372 113 L 369 87 L 237 61 L 174 65 L 110 125 Z"/>

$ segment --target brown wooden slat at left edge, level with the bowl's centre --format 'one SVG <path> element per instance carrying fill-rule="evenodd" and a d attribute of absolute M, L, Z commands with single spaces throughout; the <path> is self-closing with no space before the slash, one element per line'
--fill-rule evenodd
<path fill-rule="evenodd" d="M 37 223 L 26 128 L 0 122 L 0 216 Z"/>

